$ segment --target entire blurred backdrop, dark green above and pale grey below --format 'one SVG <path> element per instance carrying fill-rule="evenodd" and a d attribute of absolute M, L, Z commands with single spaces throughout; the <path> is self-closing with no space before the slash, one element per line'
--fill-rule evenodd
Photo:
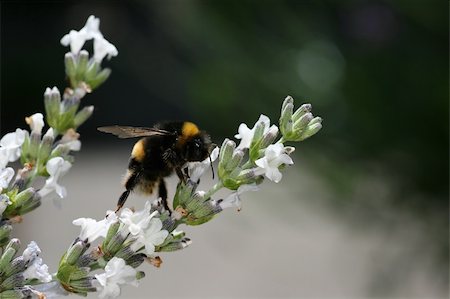
<path fill-rule="evenodd" d="M 56 271 L 78 217 L 115 206 L 132 140 L 110 124 L 190 119 L 217 143 L 291 95 L 322 131 L 283 181 L 186 227 L 194 243 L 123 298 L 448 298 L 448 3 L 2 1 L 1 133 L 63 89 L 60 38 L 90 14 L 119 49 L 83 101 L 94 117 L 63 179 L 69 196 L 16 226 Z M 176 181 L 170 181 L 170 188 Z M 132 196 L 129 206 L 141 207 Z M 95 296 L 92 296 L 93 298 Z"/>

